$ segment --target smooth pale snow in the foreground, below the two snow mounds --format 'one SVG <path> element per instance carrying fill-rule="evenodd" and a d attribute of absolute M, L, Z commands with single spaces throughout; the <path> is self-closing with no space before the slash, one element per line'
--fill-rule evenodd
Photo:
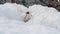
<path fill-rule="evenodd" d="M 0 17 L 0 34 L 60 34 L 60 31 L 54 28 L 39 24 L 27 24 L 18 20 L 10 20 L 6 17 Z"/>

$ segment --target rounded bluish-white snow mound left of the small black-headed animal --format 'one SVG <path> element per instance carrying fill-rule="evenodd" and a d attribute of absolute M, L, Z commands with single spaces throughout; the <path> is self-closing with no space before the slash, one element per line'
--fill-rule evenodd
<path fill-rule="evenodd" d="M 5 16 L 9 19 L 22 20 L 27 8 L 16 3 L 5 3 L 0 5 L 0 16 Z"/>

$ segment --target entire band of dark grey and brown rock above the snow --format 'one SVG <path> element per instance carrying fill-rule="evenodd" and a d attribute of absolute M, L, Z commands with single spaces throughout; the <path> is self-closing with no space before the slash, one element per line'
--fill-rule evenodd
<path fill-rule="evenodd" d="M 48 7 L 54 7 L 57 10 L 60 11 L 60 0 L 0 0 L 0 4 L 4 4 L 6 2 L 12 2 L 17 4 L 22 4 L 29 8 L 29 6 L 32 6 L 34 4 L 48 6 Z"/>

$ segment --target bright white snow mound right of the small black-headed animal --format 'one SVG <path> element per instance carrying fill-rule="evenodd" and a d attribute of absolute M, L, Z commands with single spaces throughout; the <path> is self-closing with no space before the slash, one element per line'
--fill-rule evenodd
<path fill-rule="evenodd" d="M 46 25 L 60 29 L 60 12 L 52 7 L 33 5 L 29 7 L 32 19 L 29 23 Z"/>

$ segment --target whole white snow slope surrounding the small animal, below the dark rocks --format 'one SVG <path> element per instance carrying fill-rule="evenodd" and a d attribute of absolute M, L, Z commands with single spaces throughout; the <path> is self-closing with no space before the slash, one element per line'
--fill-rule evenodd
<path fill-rule="evenodd" d="M 32 18 L 25 23 L 25 13 Z M 5 3 L 0 5 L 0 34 L 60 34 L 60 13 L 51 7 Z"/>

